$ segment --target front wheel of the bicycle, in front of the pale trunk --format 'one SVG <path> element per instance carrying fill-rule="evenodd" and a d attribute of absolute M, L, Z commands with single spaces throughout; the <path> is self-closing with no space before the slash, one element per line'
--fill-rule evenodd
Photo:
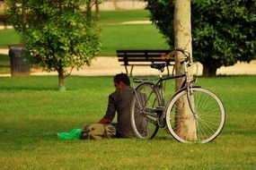
<path fill-rule="evenodd" d="M 225 107 L 222 101 L 207 89 L 191 88 L 190 91 L 191 105 L 195 115 L 190 110 L 187 92 L 184 89 L 166 106 L 166 124 L 176 140 L 207 143 L 216 139 L 223 129 Z M 184 114 L 185 112 L 187 115 Z"/>

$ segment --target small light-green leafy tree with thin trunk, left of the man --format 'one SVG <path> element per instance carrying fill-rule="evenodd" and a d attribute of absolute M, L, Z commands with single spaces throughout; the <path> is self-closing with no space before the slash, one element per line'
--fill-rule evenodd
<path fill-rule="evenodd" d="M 18 32 L 31 64 L 57 71 L 59 89 L 74 67 L 90 65 L 100 50 L 96 23 L 85 17 L 81 6 L 87 0 L 9 0 L 8 18 Z M 23 15 L 25 29 L 22 29 Z"/>

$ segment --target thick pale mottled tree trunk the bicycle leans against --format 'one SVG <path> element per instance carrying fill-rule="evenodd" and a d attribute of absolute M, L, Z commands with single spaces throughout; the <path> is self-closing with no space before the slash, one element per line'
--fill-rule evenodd
<path fill-rule="evenodd" d="M 174 8 L 175 47 L 182 48 L 192 55 L 190 0 L 175 0 Z M 176 52 L 175 71 L 177 74 L 184 72 L 181 65 L 182 57 L 180 52 Z M 182 81 L 182 79 L 176 80 L 176 90 L 181 88 Z M 176 132 L 183 139 L 196 140 L 196 123 L 191 114 L 190 106 L 187 98 L 182 98 L 181 100 L 178 110 L 184 110 L 184 112 L 180 113 L 181 115 L 178 115 L 178 112 L 176 113 L 176 126 L 178 127 Z"/>

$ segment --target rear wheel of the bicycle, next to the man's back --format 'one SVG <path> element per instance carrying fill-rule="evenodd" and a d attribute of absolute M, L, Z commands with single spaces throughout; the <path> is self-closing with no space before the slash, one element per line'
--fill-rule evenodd
<path fill-rule="evenodd" d="M 140 84 L 131 105 L 131 126 L 139 139 L 153 139 L 159 126 L 157 123 L 157 107 L 162 106 L 160 95 L 154 84 Z"/>

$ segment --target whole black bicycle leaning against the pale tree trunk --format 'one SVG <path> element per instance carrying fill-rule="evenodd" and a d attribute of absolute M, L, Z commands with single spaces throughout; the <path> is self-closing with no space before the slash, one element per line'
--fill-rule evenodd
<path fill-rule="evenodd" d="M 196 78 L 189 79 L 188 67 L 192 64 L 190 53 L 181 48 L 184 73 L 163 77 L 166 64 L 151 64 L 159 71 L 157 82 L 148 79 L 133 79 L 139 83 L 131 106 L 131 126 L 139 139 L 153 139 L 159 128 L 166 130 L 181 142 L 207 143 L 216 139 L 225 125 L 225 107 L 210 90 L 194 86 Z M 164 101 L 163 81 L 183 78 L 181 89 L 176 91 L 167 105 Z M 188 123 L 189 126 L 185 126 Z M 185 128 L 185 129 L 182 129 Z M 184 132 L 187 132 L 184 134 Z M 189 135 L 189 136 L 188 136 Z"/>

